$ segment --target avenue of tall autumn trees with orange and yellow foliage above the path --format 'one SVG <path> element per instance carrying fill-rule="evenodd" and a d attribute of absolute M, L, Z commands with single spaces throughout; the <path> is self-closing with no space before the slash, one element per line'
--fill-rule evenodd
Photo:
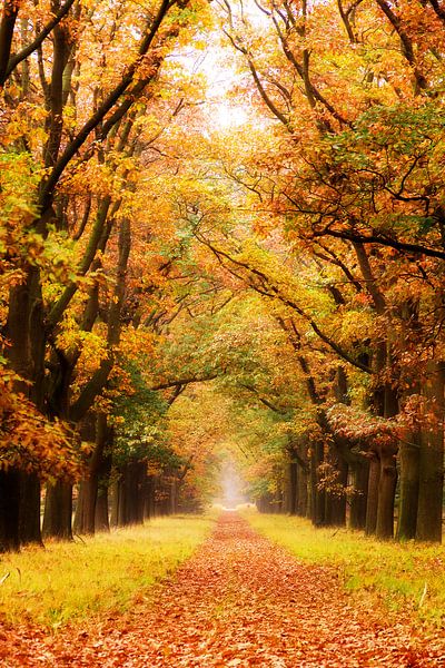
<path fill-rule="evenodd" d="M 439 0 L 6 0 L 0 551 L 199 510 L 227 459 L 442 540 L 444 59 Z"/>

